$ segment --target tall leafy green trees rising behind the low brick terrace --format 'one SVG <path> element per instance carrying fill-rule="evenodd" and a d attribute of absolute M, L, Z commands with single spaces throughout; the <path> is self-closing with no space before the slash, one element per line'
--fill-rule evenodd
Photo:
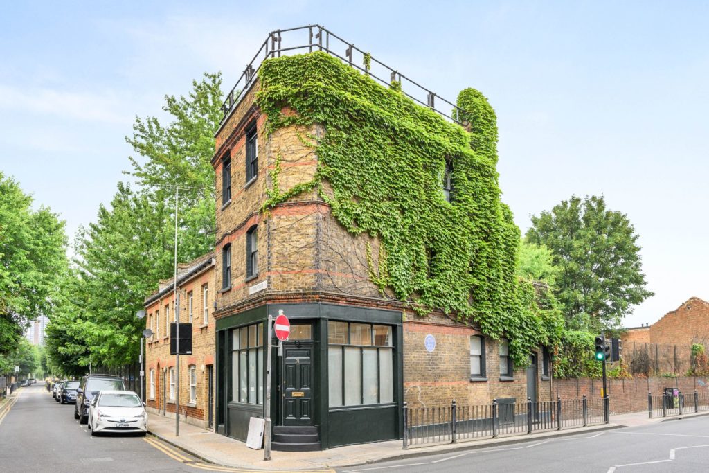
<path fill-rule="evenodd" d="M 213 135 L 220 119 L 219 74 L 194 82 L 189 96 L 165 97 L 172 121 L 136 118 L 126 138 L 138 188 L 119 182 L 96 222 L 79 230 L 74 267 L 62 280 L 48 328 L 50 365 L 78 375 L 138 358 L 145 321 L 135 317 L 158 281 L 174 271 L 174 186 L 180 186 L 178 258 L 193 260 L 214 242 Z"/>

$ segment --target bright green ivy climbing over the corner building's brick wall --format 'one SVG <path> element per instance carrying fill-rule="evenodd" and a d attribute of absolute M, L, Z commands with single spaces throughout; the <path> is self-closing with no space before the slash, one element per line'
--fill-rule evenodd
<path fill-rule="evenodd" d="M 520 231 L 500 199 L 496 116 L 479 91 L 459 95 L 467 132 L 322 52 L 266 60 L 259 77 L 269 131 L 315 123 L 326 130 L 302 137 L 316 149 L 316 176 L 279 189 L 277 167 L 265 208 L 318 189 L 350 233 L 381 241 L 371 273 L 382 291 L 419 313 L 440 309 L 510 338 L 518 365 L 554 343 L 558 311 L 539 308 L 532 284 L 517 277 Z M 447 163 L 451 202 L 441 191 Z"/>

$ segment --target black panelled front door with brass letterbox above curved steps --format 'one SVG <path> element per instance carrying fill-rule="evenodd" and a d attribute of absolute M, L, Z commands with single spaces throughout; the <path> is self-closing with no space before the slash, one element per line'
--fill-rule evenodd
<path fill-rule="evenodd" d="M 284 343 L 281 366 L 282 425 L 313 425 L 313 345 Z"/>

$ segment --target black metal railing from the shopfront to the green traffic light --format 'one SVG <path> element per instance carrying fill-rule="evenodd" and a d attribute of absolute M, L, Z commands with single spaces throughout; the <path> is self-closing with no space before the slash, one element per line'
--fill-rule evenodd
<path fill-rule="evenodd" d="M 458 406 L 403 405 L 403 447 L 608 423 L 609 399 L 564 399 Z"/>

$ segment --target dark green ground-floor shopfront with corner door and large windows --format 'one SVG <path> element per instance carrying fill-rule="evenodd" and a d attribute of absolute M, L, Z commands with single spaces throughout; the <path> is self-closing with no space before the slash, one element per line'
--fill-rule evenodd
<path fill-rule="evenodd" d="M 281 443 L 289 433 L 306 440 L 303 450 L 401 438 L 401 312 L 324 303 L 264 304 L 217 320 L 217 431 L 246 440 L 250 418 L 264 416 L 264 333 L 279 311 L 291 335 L 281 356 L 272 352 L 274 450 L 300 450 Z"/>

